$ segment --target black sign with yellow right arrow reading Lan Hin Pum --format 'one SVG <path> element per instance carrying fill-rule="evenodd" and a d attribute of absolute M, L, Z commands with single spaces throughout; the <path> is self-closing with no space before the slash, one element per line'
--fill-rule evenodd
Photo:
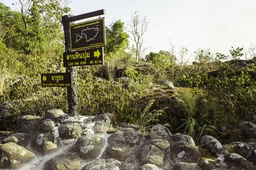
<path fill-rule="evenodd" d="M 63 53 L 64 67 L 104 64 L 103 47 Z"/>

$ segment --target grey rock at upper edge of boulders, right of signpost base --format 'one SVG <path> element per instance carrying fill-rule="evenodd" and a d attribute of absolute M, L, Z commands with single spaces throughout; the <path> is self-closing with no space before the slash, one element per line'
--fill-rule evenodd
<path fill-rule="evenodd" d="M 92 130 L 95 133 L 106 133 L 110 127 L 112 127 L 114 122 L 113 114 L 105 113 L 101 115 L 94 116 L 91 121 L 95 123 Z"/>

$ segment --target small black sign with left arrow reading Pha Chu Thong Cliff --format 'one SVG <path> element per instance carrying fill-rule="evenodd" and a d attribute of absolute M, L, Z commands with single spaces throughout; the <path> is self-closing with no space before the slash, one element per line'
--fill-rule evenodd
<path fill-rule="evenodd" d="M 71 87 L 70 73 L 41 74 L 41 85 L 43 87 Z"/>

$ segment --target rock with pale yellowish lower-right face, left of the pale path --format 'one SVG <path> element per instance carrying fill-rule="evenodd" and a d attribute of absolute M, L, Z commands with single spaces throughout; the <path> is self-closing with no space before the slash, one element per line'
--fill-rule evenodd
<path fill-rule="evenodd" d="M 32 142 L 33 149 L 41 154 L 46 154 L 49 150 L 57 147 L 54 144 L 54 136 L 52 133 L 38 133 L 35 140 Z"/>

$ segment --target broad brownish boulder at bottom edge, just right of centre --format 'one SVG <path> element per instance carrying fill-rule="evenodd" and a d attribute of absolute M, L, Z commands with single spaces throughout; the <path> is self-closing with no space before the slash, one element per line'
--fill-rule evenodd
<path fill-rule="evenodd" d="M 135 155 L 140 166 L 144 164 L 155 164 L 158 167 L 166 169 L 169 167 L 169 163 L 171 162 L 171 157 L 169 157 L 165 151 L 152 144 L 148 144 L 139 150 L 136 150 Z"/>

